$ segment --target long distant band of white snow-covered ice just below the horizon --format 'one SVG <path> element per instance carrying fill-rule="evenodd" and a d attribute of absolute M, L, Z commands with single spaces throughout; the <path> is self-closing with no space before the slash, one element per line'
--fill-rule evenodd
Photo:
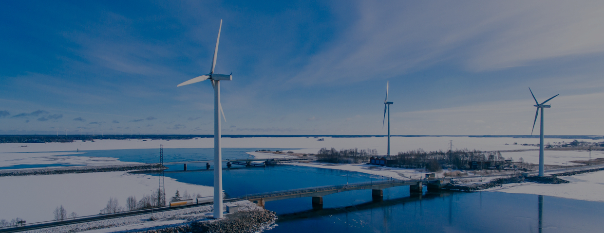
<path fill-rule="evenodd" d="M 316 153 L 321 148 L 336 149 L 377 149 L 379 154 L 386 154 L 386 137 L 356 137 L 356 138 L 316 138 L 306 137 L 249 137 L 222 138 L 223 148 L 300 148 L 301 153 Z M 539 138 L 488 138 L 488 137 L 391 137 L 391 152 L 408 151 L 422 148 L 425 151 L 446 151 L 449 140 L 453 148 L 478 149 L 481 151 L 501 151 L 513 149 L 538 149 L 536 146 L 521 146 L 523 143 L 538 144 Z M 545 143 L 572 141 L 561 138 L 545 138 Z M 590 140 L 591 141 L 591 140 Z M 507 143 L 507 145 L 506 145 Z M 518 144 L 513 144 L 518 143 Z M 214 138 L 199 138 L 197 140 L 95 140 L 73 143 L 3 143 L 0 152 L 54 152 L 54 151 L 89 151 L 116 149 L 156 149 L 159 144 L 164 148 L 214 148 Z M 21 147 L 27 146 L 27 147 Z"/>

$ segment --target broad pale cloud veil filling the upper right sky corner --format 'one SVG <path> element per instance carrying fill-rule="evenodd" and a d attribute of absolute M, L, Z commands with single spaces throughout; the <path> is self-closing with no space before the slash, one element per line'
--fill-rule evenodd
<path fill-rule="evenodd" d="M 294 82 L 385 79 L 449 61 L 472 72 L 604 52 L 604 2 L 359 2 Z"/>

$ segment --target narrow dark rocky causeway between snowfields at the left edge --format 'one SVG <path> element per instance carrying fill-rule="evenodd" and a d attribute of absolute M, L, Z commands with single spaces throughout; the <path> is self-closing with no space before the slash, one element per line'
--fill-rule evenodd
<path fill-rule="evenodd" d="M 167 167 L 164 167 L 167 169 Z M 113 166 L 55 167 L 43 169 L 0 170 L 2 176 L 56 175 L 65 173 L 123 172 L 129 170 L 160 170 L 158 164 L 124 164 Z"/>

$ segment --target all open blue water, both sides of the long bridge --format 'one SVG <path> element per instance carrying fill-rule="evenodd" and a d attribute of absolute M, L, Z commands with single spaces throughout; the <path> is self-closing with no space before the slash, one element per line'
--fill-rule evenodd
<path fill-rule="evenodd" d="M 245 152 L 255 150 L 225 148 L 223 158 L 248 158 Z M 83 155 L 150 163 L 156 161 L 158 150 L 90 151 Z M 164 149 L 165 162 L 212 158 L 213 149 Z M 223 187 L 230 197 L 387 179 L 291 165 L 234 167 L 237 169 L 223 172 Z M 193 169 L 205 169 L 205 164 L 188 165 L 188 170 Z M 170 166 L 170 170 L 182 170 L 182 164 Z M 165 175 L 190 184 L 213 185 L 213 172 L 209 171 Z M 313 210 L 310 197 L 266 202 L 266 209 L 278 216 L 277 226 L 266 232 L 604 232 L 604 203 L 533 194 L 442 191 L 419 195 L 410 194 L 403 186 L 385 189 L 381 201 L 371 199 L 371 190 L 356 190 L 324 196 L 323 203 L 323 210 Z"/>

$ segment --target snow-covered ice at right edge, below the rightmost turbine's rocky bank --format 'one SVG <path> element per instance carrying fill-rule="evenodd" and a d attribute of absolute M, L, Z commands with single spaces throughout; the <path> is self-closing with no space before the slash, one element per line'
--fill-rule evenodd
<path fill-rule="evenodd" d="M 489 188 L 483 191 L 502 191 L 505 193 L 527 193 L 545 196 L 564 197 L 577 200 L 604 202 L 604 171 L 582 173 L 574 176 L 558 176 L 570 181 L 567 184 L 537 184 L 524 182 L 506 184 L 503 187 Z"/>

